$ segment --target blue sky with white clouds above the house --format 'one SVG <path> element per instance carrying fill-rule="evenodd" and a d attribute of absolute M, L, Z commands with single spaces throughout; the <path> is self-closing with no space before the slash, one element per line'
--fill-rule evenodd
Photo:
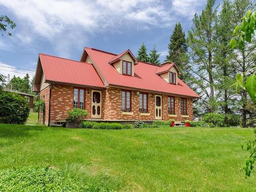
<path fill-rule="evenodd" d="M 142 42 L 148 53 L 155 45 L 163 62 L 175 24 L 187 32 L 206 2 L 0 0 L 0 15 L 16 23 L 12 36 L 0 36 L 0 74 L 32 77 L 38 53 L 79 60 L 83 48 L 92 47 L 116 54 L 130 49 L 136 56 Z"/>

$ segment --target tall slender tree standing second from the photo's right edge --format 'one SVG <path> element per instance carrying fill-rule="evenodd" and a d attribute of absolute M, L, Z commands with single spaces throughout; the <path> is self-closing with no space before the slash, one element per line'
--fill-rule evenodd
<path fill-rule="evenodd" d="M 234 20 L 233 9 L 230 0 L 224 0 L 222 9 L 218 14 L 217 20 L 217 49 L 215 51 L 214 61 L 216 63 L 216 89 L 220 98 L 220 105 L 225 114 L 225 123 L 228 123 L 227 114 L 231 114 L 230 103 L 236 101 L 235 91 L 230 88 L 230 84 L 234 83 L 236 71 L 231 66 L 231 58 L 233 58 L 232 49 L 228 47 L 232 38 Z"/>

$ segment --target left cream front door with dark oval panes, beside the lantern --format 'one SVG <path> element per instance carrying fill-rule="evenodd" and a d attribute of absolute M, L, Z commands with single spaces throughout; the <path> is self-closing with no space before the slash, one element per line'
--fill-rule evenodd
<path fill-rule="evenodd" d="M 101 91 L 92 90 L 92 118 L 101 118 Z"/>

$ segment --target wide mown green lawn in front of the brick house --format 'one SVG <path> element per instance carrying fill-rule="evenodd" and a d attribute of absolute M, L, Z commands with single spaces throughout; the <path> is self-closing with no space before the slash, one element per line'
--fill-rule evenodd
<path fill-rule="evenodd" d="M 28 173 L 50 166 L 56 177 L 61 173 L 65 186 L 75 181 L 94 191 L 256 191 L 256 171 L 247 180 L 240 172 L 248 154 L 240 141 L 252 137 L 252 129 L 242 128 L 87 130 L 0 124 L 0 170 L 15 176 L 13 167 Z M 52 182 L 61 185 L 57 181 Z"/>

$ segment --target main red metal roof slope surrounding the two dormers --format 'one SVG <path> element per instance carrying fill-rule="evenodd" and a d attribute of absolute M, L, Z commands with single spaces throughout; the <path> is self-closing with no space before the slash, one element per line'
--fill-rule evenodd
<path fill-rule="evenodd" d="M 109 65 L 109 61 L 113 58 L 112 53 L 92 48 L 84 49 L 93 59 L 95 65 L 110 86 L 199 98 L 199 96 L 179 78 L 178 84 L 170 84 L 156 74 L 159 68 L 165 66 L 161 67 L 139 61 L 138 65 L 135 66 L 134 77 L 122 75 L 119 74 L 112 65 Z"/>

